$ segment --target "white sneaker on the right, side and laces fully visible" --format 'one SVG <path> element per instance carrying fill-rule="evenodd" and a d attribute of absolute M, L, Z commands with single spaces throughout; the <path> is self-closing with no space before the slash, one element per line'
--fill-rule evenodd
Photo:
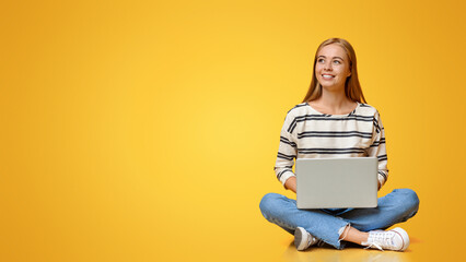
<path fill-rule="evenodd" d="M 380 250 L 405 251 L 409 246 L 408 234 L 400 227 L 392 230 L 373 230 L 369 231 L 368 241 L 362 242 L 368 248 L 376 248 Z"/>

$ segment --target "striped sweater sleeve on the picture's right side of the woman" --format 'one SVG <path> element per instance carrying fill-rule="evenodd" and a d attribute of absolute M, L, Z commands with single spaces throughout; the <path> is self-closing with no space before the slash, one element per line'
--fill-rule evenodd
<path fill-rule="evenodd" d="M 388 179 L 387 152 L 385 145 L 385 130 L 377 111 L 373 118 L 372 144 L 368 150 L 368 155 L 375 156 L 378 159 L 377 178 L 381 187 L 384 186 Z"/>

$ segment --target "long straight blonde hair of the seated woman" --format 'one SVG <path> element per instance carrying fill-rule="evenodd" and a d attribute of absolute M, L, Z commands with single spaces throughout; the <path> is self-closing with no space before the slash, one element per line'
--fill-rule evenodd
<path fill-rule="evenodd" d="M 359 83 L 359 79 L 358 79 L 358 68 L 357 68 L 354 49 L 347 40 L 342 38 L 329 38 L 323 41 L 318 46 L 317 51 L 315 52 L 315 56 L 314 56 L 314 67 L 313 67 L 311 85 L 306 96 L 303 99 L 303 103 L 315 100 L 322 96 L 322 85 L 321 83 L 318 83 L 317 78 L 315 76 L 315 63 L 317 61 L 318 51 L 321 51 L 323 47 L 331 45 L 331 44 L 337 44 L 341 46 L 349 58 L 349 67 L 350 67 L 351 74 L 350 76 L 347 78 L 345 82 L 346 96 L 353 102 L 365 104 L 366 102 L 365 102 L 364 95 L 362 94 L 361 84 Z"/>

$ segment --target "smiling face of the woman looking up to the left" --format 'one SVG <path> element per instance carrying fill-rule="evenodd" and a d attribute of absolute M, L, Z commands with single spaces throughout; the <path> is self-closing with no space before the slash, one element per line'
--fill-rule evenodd
<path fill-rule="evenodd" d="M 345 90 L 345 82 L 350 75 L 349 58 L 341 46 L 330 44 L 317 52 L 315 76 L 322 87 Z"/>

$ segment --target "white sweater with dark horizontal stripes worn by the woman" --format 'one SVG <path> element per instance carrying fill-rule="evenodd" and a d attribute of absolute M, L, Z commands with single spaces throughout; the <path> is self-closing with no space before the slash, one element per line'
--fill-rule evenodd
<path fill-rule="evenodd" d="M 294 158 L 378 158 L 378 182 L 388 178 L 384 127 L 378 111 L 358 103 L 348 115 L 326 115 L 302 103 L 288 111 L 280 133 L 275 172 L 282 184 L 294 176 Z"/>

